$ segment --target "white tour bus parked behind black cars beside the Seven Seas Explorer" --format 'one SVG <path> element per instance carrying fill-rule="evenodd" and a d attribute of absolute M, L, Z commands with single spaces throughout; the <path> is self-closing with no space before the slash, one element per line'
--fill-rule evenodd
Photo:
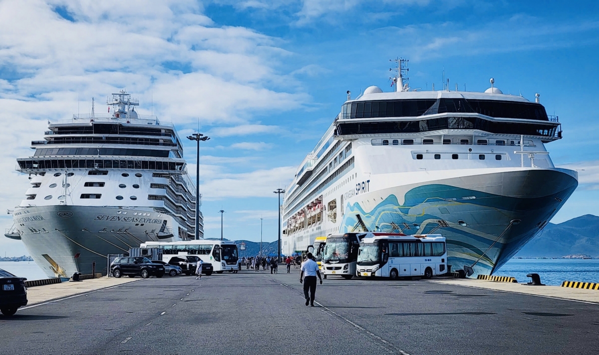
<path fill-rule="evenodd" d="M 168 263 L 177 255 L 195 255 L 211 263 L 214 272 L 237 270 L 239 260 L 237 244 L 231 240 L 184 240 L 181 242 L 146 242 L 141 248 L 162 248 L 162 261 Z"/>

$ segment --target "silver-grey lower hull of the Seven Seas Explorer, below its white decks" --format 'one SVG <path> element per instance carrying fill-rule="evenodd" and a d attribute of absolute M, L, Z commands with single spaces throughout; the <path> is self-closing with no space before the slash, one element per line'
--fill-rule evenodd
<path fill-rule="evenodd" d="M 32 206 L 16 210 L 14 223 L 49 277 L 92 273 L 94 262 L 95 272 L 106 273 L 108 254 L 126 253 L 150 240 L 180 240 L 170 232 L 176 221 L 148 207 Z"/>

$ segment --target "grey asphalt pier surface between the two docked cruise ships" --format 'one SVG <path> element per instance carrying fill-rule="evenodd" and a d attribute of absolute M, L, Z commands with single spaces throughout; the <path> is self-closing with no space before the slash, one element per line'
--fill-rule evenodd
<path fill-rule="evenodd" d="M 328 278 L 317 286 L 311 308 L 304 306 L 299 269 L 289 275 L 284 269 L 197 281 L 77 282 L 90 290 L 0 316 L 2 352 L 585 354 L 594 351 L 599 334 L 599 304 L 562 299 L 599 291 L 440 278 Z M 105 287 L 121 280 L 137 282 Z"/>

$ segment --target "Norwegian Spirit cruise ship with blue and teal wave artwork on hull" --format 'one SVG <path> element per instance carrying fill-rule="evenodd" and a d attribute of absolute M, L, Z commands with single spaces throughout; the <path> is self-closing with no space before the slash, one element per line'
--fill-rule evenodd
<path fill-rule="evenodd" d="M 494 79 L 485 92 L 410 89 L 407 60 L 395 62 L 394 90 L 348 91 L 299 165 L 282 206 L 283 254 L 331 233 L 441 233 L 452 270 L 489 275 L 578 185 L 545 147 L 562 138 L 558 117 L 539 94 L 506 95 Z"/>

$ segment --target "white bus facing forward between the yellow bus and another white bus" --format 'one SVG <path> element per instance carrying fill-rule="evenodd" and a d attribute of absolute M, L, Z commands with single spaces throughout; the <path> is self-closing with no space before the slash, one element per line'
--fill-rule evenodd
<path fill-rule="evenodd" d="M 360 240 L 368 232 L 329 234 L 322 253 L 322 273 L 350 279 L 356 274 Z"/>

